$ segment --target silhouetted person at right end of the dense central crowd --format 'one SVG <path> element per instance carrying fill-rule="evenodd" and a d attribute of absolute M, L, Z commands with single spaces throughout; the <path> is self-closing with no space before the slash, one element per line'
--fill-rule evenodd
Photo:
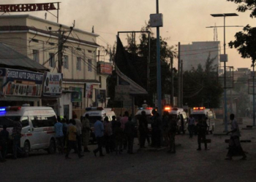
<path fill-rule="evenodd" d="M 177 116 L 169 116 L 169 119 L 167 120 L 167 132 L 170 147 L 170 150 L 168 152 L 171 154 L 176 153 L 175 136 L 177 132 L 177 122 Z"/>

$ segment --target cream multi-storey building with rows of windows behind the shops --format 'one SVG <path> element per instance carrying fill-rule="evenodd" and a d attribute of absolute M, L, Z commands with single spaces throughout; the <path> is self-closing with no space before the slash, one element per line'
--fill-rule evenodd
<path fill-rule="evenodd" d="M 42 97 L 35 105 L 52 106 L 57 114 L 66 115 L 68 118 L 71 118 L 72 111 L 78 112 L 80 116 L 87 106 L 97 105 L 97 93 L 106 93 L 107 78 L 97 71 L 99 35 L 78 28 L 69 33 L 70 31 L 67 25 L 31 15 L 0 16 L 0 41 L 49 68 L 53 73 L 59 72 L 59 43 L 60 40 L 64 41 L 61 49 L 62 96 Z M 85 94 L 86 84 L 87 87 L 93 87 L 89 97 Z"/>

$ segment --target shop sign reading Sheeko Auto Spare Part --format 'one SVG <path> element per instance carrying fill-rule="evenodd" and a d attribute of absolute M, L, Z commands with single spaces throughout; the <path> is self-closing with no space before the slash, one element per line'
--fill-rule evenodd
<path fill-rule="evenodd" d="M 4 84 L 2 84 L 4 95 L 41 96 L 43 74 L 8 68 L 5 72 Z"/>

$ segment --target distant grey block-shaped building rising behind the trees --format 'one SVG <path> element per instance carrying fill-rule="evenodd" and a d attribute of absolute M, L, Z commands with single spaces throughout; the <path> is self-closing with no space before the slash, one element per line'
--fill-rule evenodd
<path fill-rule="evenodd" d="M 210 58 L 214 60 L 214 66 L 220 66 L 220 42 L 219 41 L 192 41 L 192 44 L 181 44 L 181 60 L 183 60 L 183 70 L 191 71 L 192 68 L 197 69 L 200 64 L 205 69 L 206 60 L 210 54 Z"/>

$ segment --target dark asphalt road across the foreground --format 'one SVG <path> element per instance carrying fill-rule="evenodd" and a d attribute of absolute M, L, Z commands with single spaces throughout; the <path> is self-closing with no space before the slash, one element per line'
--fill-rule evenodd
<path fill-rule="evenodd" d="M 244 119 L 240 128 L 252 124 L 252 119 Z M 72 159 L 63 155 L 49 155 L 46 151 L 34 151 L 30 157 L 16 160 L 7 159 L 0 163 L 0 182 L 6 181 L 256 181 L 255 128 L 241 130 L 247 160 L 226 161 L 227 135 L 222 134 L 224 125 L 216 122 L 215 135 L 207 135 L 209 151 L 197 151 L 197 137 L 188 134 L 176 135 L 176 154 L 168 154 L 167 149 L 159 151 L 137 151 L 135 154 L 106 154 L 94 157 L 86 153 L 82 159 L 70 154 Z M 90 146 L 94 149 L 96 146 Z M 105 152 L 105 150 L 104 150 Z"/>

